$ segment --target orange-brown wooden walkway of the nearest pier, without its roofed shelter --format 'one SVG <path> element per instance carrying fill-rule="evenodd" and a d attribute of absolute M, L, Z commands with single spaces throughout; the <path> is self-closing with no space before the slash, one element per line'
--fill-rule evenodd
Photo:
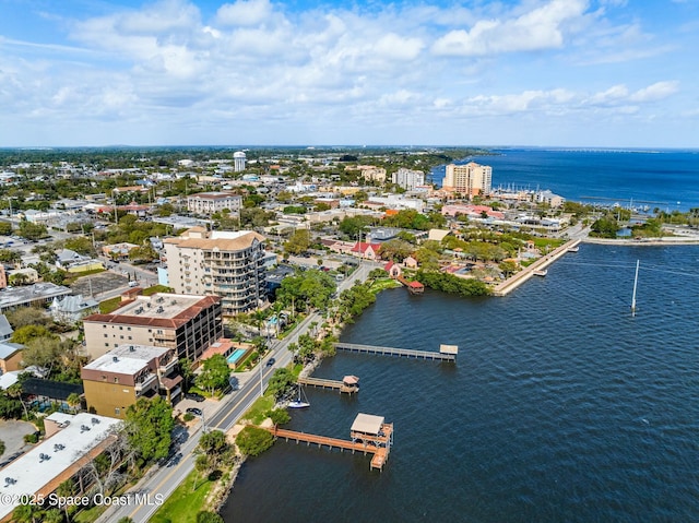
<path fill-rule="evenodd" d="M 339 438 L 329 438 L 327 436 L 318 436 L 306 432 L 298 432 L 296 430 L 282 429 L 279 427 L 265 427 L 266 430 L 272 432 L 274 438 L 284 438 L 286 441 L 296 441 L 296 444 L 301 441 L 308 447 L 317 444 L 319 449 L 328 447 L 329 449 L 340 449 L 342 452 L 345 450 L 355 452 L 363 452 L 366 454 L 374 454 L 371 457 L 370 468 L 378 468 L 381 471 L 386 464 L 389 453 L 391 452 L 391 443 L 393 441 L 393 424 L 382 425 L 382 436 L 376 437 L 372 441 L 347 441 Z"/>

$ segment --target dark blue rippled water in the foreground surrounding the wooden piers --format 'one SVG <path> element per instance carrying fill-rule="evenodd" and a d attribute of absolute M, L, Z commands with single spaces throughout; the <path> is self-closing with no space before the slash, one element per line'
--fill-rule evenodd
<path fill-rule="evenodd" d="M 386 292 L 343 341 L 457 344 L 458 364 L 340 353 L 316 376 L 362 392 L 309 389 L 291 424 L 347 438 L 358 412 L 386 416 L 383 473 L 281 441 L 244 466 L 225 521 L 699 521 L 698 309 L 698 247 L 583 245 L 506 298 Z"/>

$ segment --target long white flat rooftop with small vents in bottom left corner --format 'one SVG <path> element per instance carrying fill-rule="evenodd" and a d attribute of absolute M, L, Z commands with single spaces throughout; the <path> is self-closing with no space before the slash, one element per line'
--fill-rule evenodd
<path fill-rule="evenodd" d="M 99 444 L 121 423 L 119 419 L 88 413 L 70 418 L 66 417 L 68 415 L 62 416 L 59 421 L 68 421 L 66 428 L 2 468 L 0 496 L 8 496 L 4 499 L 12 502 L 0 503 L 0 520 L 20 504 L 21 496 L 31 496 L 59 476 L 68 475 L 78 460 Z"/>

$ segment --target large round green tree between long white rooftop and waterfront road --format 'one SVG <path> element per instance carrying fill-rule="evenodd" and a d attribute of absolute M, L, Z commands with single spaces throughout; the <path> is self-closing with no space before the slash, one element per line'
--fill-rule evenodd
<path fill-rule="evenodd" d="M 162 397 L 139 400 L 127 408 L 125 430 L 132 450 L 144 463 L 165 457 L 175 426 L 173 407 Z"/>

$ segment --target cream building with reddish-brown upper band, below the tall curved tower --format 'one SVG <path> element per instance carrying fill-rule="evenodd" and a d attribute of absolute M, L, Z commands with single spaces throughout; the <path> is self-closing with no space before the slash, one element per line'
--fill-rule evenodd
<path fill-rule="evenodd" d="M 175 349 L 177 358 L 199 359 L 223 335 L 221 298 L 154 294 L 125 299 L 108 314 L 83 319 L 85 349 L 93 358 L 119 345 Z"/>

